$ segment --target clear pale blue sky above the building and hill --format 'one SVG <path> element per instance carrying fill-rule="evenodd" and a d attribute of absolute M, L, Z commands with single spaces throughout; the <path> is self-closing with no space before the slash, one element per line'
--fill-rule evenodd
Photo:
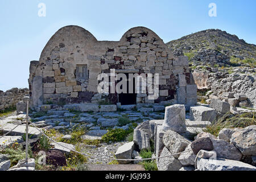
<path fill-rule="evenodd" d="M 38 4 L 46 4 L 46 17 Z M 209 3 L 216 3 L 217 17 L 210 17 Z M 98 40 L 119 40 L 130 28 L 148 27 L 164 40 L 209 28 L 236 34 L 256 44 L 254 0 L 1 0 L 0 90 L 28 87 L 31 60 L 39 60 L 49 38 L 59 28 L 78 25 Z"/>

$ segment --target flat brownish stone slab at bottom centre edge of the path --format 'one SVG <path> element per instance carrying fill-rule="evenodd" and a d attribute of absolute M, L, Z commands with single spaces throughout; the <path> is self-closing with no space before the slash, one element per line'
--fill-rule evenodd
<path fill-rule="evenodd" d="M 88 164 L 90 171 L 145 171 L 144 167 L 138 164 Z"/>

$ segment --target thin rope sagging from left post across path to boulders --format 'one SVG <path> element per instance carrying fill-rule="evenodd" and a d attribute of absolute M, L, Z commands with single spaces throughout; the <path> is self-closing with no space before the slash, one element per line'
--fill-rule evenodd
<path fill-rule="evenodd" d="M 59 146 L 61 147 L 64 147 L 64 148 L 67 148 L 68 150 L 72 151 L 72 152 L 76 152 L 78 154 L 81 154 L 81 155 L 85 155 L 85 156 L 89 156 L 89 157 L 92 157 L 92 158 L 97 158 L 97 159 L 106 159 L 106 160 L 121 160 L 121 161 L 136 161 L 136 160 L 155 160 L 155 159 L 161 159 L 161 158 L 168 158 L 168 157 L 171 157 L 171 156 L 174 156 L 174 155 L 179 155 L 179 154 L 183 154 L 185 152 L 189 152 L 189 151 L 192 151 L 192 150 L 186 150 L 186 151 L 183 151 L 183 152 L 179 152 L 179 153 L 176 153 L 176 154 L 171 154 L 171 155 L 166 155 L 166 156 L 160 156 L 160 157 L 155 157 L 155 158 L 146 158 L 146 159 L 115 159 L 115 158 L 102 158 L 102 157 L 99 157 L 99 156 L 94 156 L 94 155 L 89 155 L 89 154 L 85 154 L 83 152 L 79 152 L 79 151 L 76 151 L 76 150 L 73 150 L 71 148 L 68 148 L 67 146 L 64 146 L 63 144 L 60 144 L 60 143 L 57 143 L 55 140 L 53 140 L 52 138 L 49 138 L 46 134 L 44 134 L 40 129 L 38 129 L 38 127 L 36 127 L 34 125 L 34 123 L 31 122 L 31 125 L 33 125 L 38 131 L 40 131 L 40 133 L 42 133 L 46 138 L 48 138 L 49 140 L 51 140 L 52 142 L 58 144 Z"/>

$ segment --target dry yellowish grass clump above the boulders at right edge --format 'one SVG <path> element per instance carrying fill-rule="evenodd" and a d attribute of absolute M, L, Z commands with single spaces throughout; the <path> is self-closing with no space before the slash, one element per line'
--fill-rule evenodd
<path fill-rule="evenodd" d="M 204 131 L 217 137 L 220 130 L 224 128 L 244 128 L 250 125 L 256 125 L 255 114 L 256 113 L 242 113 L 233 115 L 231 113 L 226 113 L 221 118 L 213 121 L 211 125 L 204 129 Z"/>

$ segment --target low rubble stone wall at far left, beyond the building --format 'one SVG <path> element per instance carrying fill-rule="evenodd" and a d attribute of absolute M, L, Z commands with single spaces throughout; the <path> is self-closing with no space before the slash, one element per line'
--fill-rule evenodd
<path fill-rule="evenodd" d="M 13 88 L 3 92 L 0 90 L 0 110 L 10 106 L 16 106 L 16 103 L 23 100 L 23 97 L 29 94 L 29 89 Z"/>

